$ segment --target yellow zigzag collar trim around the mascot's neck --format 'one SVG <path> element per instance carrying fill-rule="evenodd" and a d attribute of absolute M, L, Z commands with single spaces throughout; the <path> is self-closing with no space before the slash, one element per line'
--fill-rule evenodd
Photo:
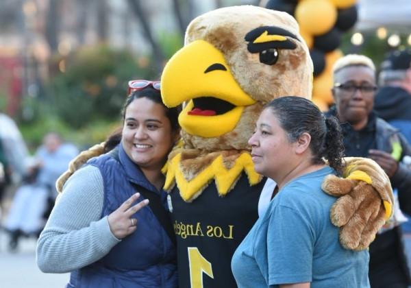
<path fill-rule="evenodd" d="M 179 193 L 186 202 L 191 202 L 206 189 L 210 181 L 215 180 L 219 195 L 226 195 L 236 184 L 242 171 L 247 173 L 249 184 L 255 185 L 261 181 L 262 176 L 254 170 L 253 161 L 249 153 L 242 153 L 235 160 L 231 169 L 226 169 L 223 163 L 223 156 L 216 157 L 206 169 L 203 169 L 192 180 L 187 181 L 184 173 L 180 169 L 182 154 L 174 156 L 162 169 L 166 174 L 164 190 L 171 191 L 177 183 Z"/>

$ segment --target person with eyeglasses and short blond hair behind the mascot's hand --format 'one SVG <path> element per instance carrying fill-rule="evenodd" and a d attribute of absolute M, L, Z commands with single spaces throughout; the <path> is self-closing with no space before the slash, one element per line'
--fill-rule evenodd
<path fill-rule="evenodd" d="M 335 106 L 327 114 L 338 117 L 344 134 L 346 156 L 375 160 L 397 189 L 399 204 L 411 212 L 411 169 L 401 163 L 411 155 L 411 146 L 393 126 L 373 112 L 375 66 L 360 55 L 347 55 L 333 67 Z M 405 218 L 398 205 L 391 219 L 370 246 L 369 277 L 373 288 L 404 287 L 411 284 L 399 222 Z M 402 219 L 401 219 L 402 217 Z"/>

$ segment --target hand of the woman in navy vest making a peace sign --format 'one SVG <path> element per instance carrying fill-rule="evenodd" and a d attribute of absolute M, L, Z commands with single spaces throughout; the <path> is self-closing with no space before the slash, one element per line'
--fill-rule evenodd
<path fill-rule="evenodd" d="M 149 200 L 145 199 L 138 204 L 132 206 L 134 202 L 140 197 L 140 193 L 135 193 L 132 197 L 129 197 L 116 211 L 108 215 L 108 225 L 117 239 L 123 239 L 127 235 L 137 229 L 137 219 L 132 218 L 134 213 L 140 211 L 140 209 L 149 204 Z"/>

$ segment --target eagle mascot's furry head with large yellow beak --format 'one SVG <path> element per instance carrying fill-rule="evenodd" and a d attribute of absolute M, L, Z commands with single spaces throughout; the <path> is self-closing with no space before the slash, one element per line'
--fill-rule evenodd
<path fill-rule="evenodd" d="M 203 14 L 162 74 L 166 106 L 179 115 L 188 148 L 248 149 L 262 106 L 282 96 L 311 98 L 312 60 L 295 19 L 244 5 Z"/>

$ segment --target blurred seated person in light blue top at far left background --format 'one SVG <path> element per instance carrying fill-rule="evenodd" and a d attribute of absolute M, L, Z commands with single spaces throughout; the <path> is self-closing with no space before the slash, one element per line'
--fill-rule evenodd
<path fill-rule="evenodd" d="M 49 132 L 34 157 L 25 160 L 26 173 L 12 200 L 4 228 L 10 233 L 10 250 L 16 250 L 21 235 L 38 236 L 45 226 L 48 205 L 55 200 L 55 180 L 65 171 L 78 150 Z"/>

